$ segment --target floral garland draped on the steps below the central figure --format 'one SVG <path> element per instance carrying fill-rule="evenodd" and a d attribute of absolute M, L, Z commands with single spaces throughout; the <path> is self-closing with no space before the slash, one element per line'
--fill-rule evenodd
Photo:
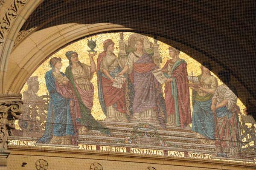
<path fill-rule="evenodd" d="M 153 137 L 155 136 L 156 139 L 157 139 L 157 144 L 159 146 L 164 146 L 164 147 L 179 147 L 178 145 L 176 144 L 171 144 L 169 142 L 166 142 L 166 141 L 163 141 L 157 131 L 157 128 L 155 128 L 154 126 L 148 124 L 148 123 L 143 123 L 143 124 L 139 124 L 137 127 L 133 127 L 133 131 L 131 133 L 131 136 L 129 137 L 126 137 L 125 139 L 119 139 L 119 140 L 115 140 L 113 141 L 114 143 L 126 143 L 126 144 L 131 144 L 131 143 L 134 143 L 136 144 L 137 143 L 137 136 L 145 136 L 145 132 L 140 132 L 139 129 L 140 128 L 144 128 L 144 129 L 152 129 L 154 130 L 153 132 L 148 132 L 146 133 L 146 135 L 148 137 Z M 141 130 L 141 129 L 140 129 Z"/>

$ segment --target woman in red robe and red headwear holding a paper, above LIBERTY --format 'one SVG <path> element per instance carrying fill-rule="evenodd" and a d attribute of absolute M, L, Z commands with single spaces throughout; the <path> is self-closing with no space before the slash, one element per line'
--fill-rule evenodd
<path fill-rule="evenodd" d="M 99 54 L 97 60 L 97 75 L 98 75 L 98 94 L 99 102 L 102 106 L 102 111 L 107 116 L 106 121 L 129 122 L 125 107 L 125 78 L 123 77 L 122 85 L 113 86 L 113 84 L 122 77 L 117 77 L 122 71 L 119 59 L 113 53 L 115 43 L 111 40 L 105 40 L 103 43 L 104 52 Z M 115 85 L 116 85 L 115 84 Z"/>

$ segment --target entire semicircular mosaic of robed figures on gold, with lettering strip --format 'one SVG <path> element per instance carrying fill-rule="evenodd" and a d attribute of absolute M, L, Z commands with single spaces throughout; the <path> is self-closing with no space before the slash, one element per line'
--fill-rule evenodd
<path fill-rule="evenodd" d="M 256 126 L 212 67 L 137 33 L 79 40 L 23 86 L 10 144 L 254 162 Z"/>

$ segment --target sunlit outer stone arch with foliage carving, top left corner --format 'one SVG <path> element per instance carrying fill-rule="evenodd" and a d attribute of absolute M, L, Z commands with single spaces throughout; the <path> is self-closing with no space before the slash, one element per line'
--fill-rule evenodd
<path fill-rule="evenodd" d="M 9 65 L 9 56 L 12 51 L 14 41 L 20 28 L 26 19 L 32 14 L 43 0 L 6 0 L 1 8 L 1 37 L 0 37 L 0 91 L 6 93 L 5 83 L 7 79 L 7 68 Z"/>

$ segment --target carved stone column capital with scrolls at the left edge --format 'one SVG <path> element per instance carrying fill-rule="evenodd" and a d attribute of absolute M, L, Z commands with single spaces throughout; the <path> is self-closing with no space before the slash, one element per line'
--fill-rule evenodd
<path fill-rule="evenodd" d="M 0 150 L 7 150 L 15 120 L 23 112 L 21 94 L 0 94 Z"/>

